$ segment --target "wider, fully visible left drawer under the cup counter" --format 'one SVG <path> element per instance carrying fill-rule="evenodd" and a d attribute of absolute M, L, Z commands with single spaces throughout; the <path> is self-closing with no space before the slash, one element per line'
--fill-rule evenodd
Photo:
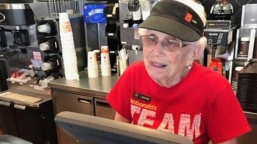
<path fill-rule="evenodd" d="M 54 91 L 54 105 L 56 113 L 71 111 L 87 115 L 94 115 L 93 98 L 83 95 Z"/>

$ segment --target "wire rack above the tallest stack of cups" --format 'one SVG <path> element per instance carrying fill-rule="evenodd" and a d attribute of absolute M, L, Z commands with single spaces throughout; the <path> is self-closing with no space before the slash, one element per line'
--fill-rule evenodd
<path fill-rule="evenodd" d="M 48 0 L 51 17 L 59 17 L 59 13 L 82 15 L 85 0 Z"/>

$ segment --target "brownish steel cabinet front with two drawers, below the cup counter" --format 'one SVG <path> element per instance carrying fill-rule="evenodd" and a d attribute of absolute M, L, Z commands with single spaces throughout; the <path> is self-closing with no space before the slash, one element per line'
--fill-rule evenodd
<path fill-rule="evenodd" d="M 105 99 L 94 98 L 94 95 L 78 95 L 59 90 L 53 90 L 53 105 L 55 115 L 62 111 L 71 111 L 102 118 L 114 119 L 115 111 Z M 57 127 L 59 144 L 79 144 L 75 137 L 66 134 Z"/>

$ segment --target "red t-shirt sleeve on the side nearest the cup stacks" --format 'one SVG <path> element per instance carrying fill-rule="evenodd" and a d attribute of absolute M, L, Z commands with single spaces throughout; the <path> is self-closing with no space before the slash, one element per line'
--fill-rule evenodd
<path fill-rule="evenodd" d="M 132 120 L 130 99 L 132 95 L 133 77 L 130 69 L 131 67 L 128 67 L 122 74 L 106 98 L 112 108 L 128 120 Z"/>

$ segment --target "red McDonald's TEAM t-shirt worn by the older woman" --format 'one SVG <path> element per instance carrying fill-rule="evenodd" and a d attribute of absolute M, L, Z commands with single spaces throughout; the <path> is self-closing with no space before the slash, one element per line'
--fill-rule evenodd
<path fill-rule="evenodd" d="M 251 131 L 228 81 L 197 63 L 171 88 L 154 82 L 143 61 L 133 63 L 107 101 L 135 125 L 186 136 L 195 144 L 221 143 Z"/>

